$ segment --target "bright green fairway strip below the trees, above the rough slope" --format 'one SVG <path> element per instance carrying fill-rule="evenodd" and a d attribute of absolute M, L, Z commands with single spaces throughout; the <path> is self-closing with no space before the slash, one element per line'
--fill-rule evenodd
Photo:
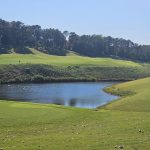
<path fill-rule="evenodd" d="M 107 67 L 139 67 L 138 63 L 111 58 L 90 58 L 69 53 L 68 56 L 52 56 L 30 49 L 33 54 L 0 55 L 0 65 L 4 64 L 48 64 L 48 65 L 98 65 Z"/>

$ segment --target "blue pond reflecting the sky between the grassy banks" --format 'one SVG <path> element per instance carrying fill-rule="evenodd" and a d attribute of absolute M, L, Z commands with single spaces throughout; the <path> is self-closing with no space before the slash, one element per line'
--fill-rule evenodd
<path fill-rule="evenodd" d="M 96 108 L 118 98 L 103 91 L 112 84 L 115 82 L 5 84 L 0 85 L 0 99 Z"/>

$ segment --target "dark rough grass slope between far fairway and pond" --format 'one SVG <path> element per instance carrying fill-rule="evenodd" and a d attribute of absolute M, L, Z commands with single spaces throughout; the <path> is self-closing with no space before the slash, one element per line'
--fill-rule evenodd
<path fill-rule="evenodd" d="M 150 76 L 144 67 L 0 65 L 0 83 L 134 80 Z"/>

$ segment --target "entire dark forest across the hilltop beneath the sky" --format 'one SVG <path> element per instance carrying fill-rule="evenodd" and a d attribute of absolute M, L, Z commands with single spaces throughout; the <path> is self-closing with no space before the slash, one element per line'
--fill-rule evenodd
<path fill-rule="evenodd" d="M 135 61 L 150 61 L 150 46 L 138 45 L 122 38 L 102 35 L 77 35 L 57 29 L 42 29 L 39 25 L 24 25 L 0 19 L 0 54 L 31 53 L 28 47 L 39 51 L 65 55 L 67 50 L 90 57 L 112 57 Z"/>

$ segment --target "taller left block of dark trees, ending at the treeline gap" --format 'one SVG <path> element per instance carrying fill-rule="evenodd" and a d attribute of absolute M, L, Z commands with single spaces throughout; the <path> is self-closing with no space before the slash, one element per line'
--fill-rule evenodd
<path fill-rule="evenodd" d="M 41 29 L 39 25 L 28 26 L 20 21 L 0 20 L 0 52 L 12 50 L 28 53 L 27 47 L 36 48 L 49 54 L 60 54 L 64 50 L 66 39 L 56 29 Z"/>

